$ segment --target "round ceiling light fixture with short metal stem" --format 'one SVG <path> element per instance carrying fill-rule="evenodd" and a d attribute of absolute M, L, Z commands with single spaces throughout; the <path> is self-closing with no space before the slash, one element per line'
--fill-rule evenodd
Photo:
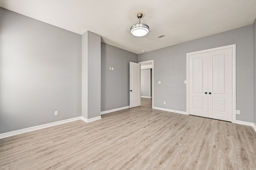
<path fill-rule="evenodd" d="M 138 13 L 137 17 L 142 18 L 143 14 L 142 13 Z M 136 37 L 142 37 L 144 35 L 147 35 L 149 32 L 149 26 L 146 23 L 136 23 L 134 25 L 132 25 L 131 27 L 131 33 L 132 35 L 136 36 Z"/>

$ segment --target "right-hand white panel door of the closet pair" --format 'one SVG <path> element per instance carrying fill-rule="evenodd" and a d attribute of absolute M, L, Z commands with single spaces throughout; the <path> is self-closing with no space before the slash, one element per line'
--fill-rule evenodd
<path fill-rule="evenodd" d="M 208 53 L 208 117 L 232 121 L 232 52 Z"/>

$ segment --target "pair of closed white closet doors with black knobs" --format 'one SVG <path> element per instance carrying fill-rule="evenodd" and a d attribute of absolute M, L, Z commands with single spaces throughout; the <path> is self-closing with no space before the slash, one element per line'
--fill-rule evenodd
<path fill-rule="evenodd" d="M 232 121 L 232 49 L 189 56 L 189 114 Z"/>

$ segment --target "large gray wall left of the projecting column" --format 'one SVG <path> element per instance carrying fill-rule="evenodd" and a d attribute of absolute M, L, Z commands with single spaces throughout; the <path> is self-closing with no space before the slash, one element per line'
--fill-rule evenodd
<path fill-rule="evenodd" d="M 78 116 L 81 35 L 0 8 L 0 133 Z"/>

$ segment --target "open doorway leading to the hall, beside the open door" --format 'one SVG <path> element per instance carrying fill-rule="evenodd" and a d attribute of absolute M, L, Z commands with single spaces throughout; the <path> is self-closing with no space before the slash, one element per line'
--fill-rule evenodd
<path fill-rule="evenodd" d="M 154 60 L 140 62 L 141 102 L 154 107 Z"/>

